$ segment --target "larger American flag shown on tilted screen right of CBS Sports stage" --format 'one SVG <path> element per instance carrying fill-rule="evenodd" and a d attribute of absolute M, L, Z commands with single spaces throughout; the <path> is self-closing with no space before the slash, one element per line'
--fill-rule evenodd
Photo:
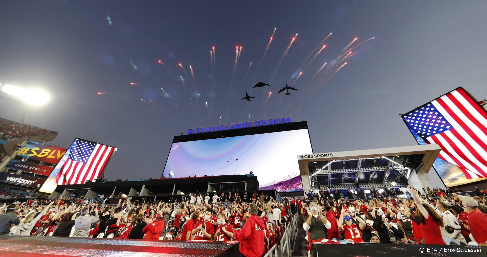
<path fill-rule="evenodd" d="M 487 111 L 462 88 L 402 116 L 439 158 L 457 165 L 468 179 L 487 178 Z"/>

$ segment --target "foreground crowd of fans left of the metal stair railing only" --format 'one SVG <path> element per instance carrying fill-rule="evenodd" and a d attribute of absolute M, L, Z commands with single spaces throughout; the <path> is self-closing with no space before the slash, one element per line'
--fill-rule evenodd
<path fill-rule="evenodd" d="M 153 198 L 151 199 L 153 200 Z M 106 204 L 82 198 L 29 199 L 0 207 L 0 235 L 240 241 L 244 256 L 279 244 L 294 200 L 268 193 L 189 194 L 168 202 L 123 198 Z M 294 207 L 291 207 L 294 206 Z"/>

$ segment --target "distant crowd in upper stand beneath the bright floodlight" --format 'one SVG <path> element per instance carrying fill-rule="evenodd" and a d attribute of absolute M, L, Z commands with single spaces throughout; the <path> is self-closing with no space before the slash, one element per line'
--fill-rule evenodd
<path fill-rule="evenodd" d="M 56 132 L 0 118 L 0 139 L 8 140 L 51 133 Z"/>

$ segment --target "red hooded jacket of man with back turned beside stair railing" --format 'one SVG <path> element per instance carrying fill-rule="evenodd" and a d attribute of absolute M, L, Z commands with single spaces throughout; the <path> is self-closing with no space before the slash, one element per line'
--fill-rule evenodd
<path fill-rule="evenodd" d="M 240 241 L 240 253 L 246 257 L 261 257 L 264 252 L 264 222 L 257 215 L 252 215 L 244 227 L 233 231 L 233 237 Z"/>

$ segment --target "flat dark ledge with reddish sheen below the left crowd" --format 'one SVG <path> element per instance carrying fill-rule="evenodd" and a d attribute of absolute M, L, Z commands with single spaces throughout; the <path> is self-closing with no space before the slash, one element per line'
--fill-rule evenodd
<path fill-rule="evenodd" d="M 237 256 L 237 244 L 144 239 L 0 236 L 0 256 Z"/>

